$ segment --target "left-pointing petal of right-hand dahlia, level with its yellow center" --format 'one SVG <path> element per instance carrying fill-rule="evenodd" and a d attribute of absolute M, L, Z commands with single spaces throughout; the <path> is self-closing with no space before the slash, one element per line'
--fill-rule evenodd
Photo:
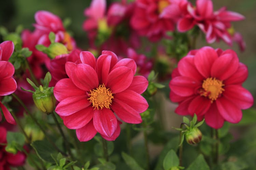
<path fill-rule="evenodd" d="M 196 88 L 201 83 L 189 77 L 178 76 L 172 79 L 169 83 L 171 90 L 179 96 L 191 96 L 196 93 Z"/>

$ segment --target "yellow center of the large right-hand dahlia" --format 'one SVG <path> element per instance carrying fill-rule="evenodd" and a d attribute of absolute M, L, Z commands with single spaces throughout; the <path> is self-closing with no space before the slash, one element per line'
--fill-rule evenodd
<path fill-rule="evenodd" d="M 225 84 L 222 81 L 216 78 L 207 78 L 203 81 L 202 88 L 200 90 L 200 96 L 208 97 L 211 100 L 211 103 L 216 100 L 219 95 L 222 94 L 225 89 L 223 88 Z"/>

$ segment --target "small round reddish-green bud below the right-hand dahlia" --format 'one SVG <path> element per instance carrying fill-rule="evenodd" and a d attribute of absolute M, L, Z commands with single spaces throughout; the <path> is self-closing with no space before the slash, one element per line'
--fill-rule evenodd
<path fill-rule="evenodd" d="M 190 145 L 199 143 L 202 139 L 202 132 L 198 128 L 193 128 L 185 132 L 187 143 Z"/>

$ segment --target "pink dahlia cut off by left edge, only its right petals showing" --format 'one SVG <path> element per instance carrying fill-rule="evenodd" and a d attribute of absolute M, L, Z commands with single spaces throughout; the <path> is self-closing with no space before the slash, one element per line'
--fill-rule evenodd
<path fill-rule="evenodd" d="M 12 94 L 17 89 L 17 83 L 12 78 L 14 74 L 13 65 L 8 62 L 14 50 L 12 41 L 4 41 L 0 44 L 0 96 L 7 96 Z M 7 122 L 16 124 L 14 118 L 8 109 L 0 102 L 0 107 Z M 2 116 L 0 114 L 0 121 Z"/>

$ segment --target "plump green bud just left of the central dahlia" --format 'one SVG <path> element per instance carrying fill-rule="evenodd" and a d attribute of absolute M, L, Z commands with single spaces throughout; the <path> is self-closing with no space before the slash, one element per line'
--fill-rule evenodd
<path fill-rule="evenodd" d="M 42 112 L 52 113 L 55 107 L 56 99 L 53 95 L 53 87 L 43 88 L 39 86 L 39 90 L 35 90 L 32 95 L 37 108 Z"/>

